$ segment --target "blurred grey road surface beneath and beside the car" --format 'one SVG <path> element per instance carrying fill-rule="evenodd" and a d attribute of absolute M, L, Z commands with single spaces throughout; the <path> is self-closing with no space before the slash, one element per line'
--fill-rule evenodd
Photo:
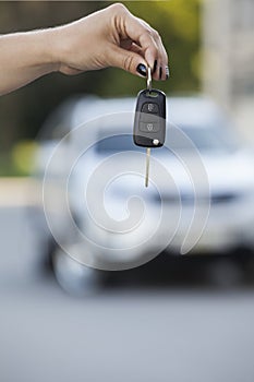
<path fill-rule="evenodd" d="M 168 285 L 76 298 L 40 271 L 25 205 L 2 203 L 0 232 L 0 381 L 253 382 L 247 283 L 216 287 L 195 272 L 184 283 L 176 266 Z"/>

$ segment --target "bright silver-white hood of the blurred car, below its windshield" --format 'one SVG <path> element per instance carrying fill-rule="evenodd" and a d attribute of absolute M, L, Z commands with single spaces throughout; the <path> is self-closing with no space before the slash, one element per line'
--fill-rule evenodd
<path fill-rule="evenodd" d="M 143 198 L 155 192 L 206 196 L 209 193 L 237 195 L 254 192 L 253 158 L 243 151 L 196 157 L 156 157 L 152 151 L 148 188 L 145 188 L 145 155 L 129 153 L 121 160 L 112 157 L 111 164 L 99 169 L 100 164 L 107 160 L 108 157 L 84 160 L 77 166 L 76 186 L 80 188 L 78 183 L 82 183 L 84 190 L 84 186 L 89 184 L 95 194 L 107 190 L 107 194 L 113 198 L 133 194 Z"/>

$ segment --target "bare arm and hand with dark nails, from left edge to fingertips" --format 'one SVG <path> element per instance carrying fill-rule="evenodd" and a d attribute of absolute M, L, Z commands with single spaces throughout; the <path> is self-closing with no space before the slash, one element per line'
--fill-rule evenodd
<path fill-rule="evenodd" d="M 121 3 L 66 25 L 1 35 L 0 52 L 0 95 L 51 72 L 71 75 L 116 67 L 144 76 L 149 65 L 155 80 L 168 77 L 158 32 Z"/>

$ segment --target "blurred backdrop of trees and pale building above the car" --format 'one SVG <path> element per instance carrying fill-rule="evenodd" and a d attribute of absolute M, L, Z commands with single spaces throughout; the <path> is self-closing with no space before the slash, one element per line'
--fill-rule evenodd
<path fill-rule="evenodd" d="M 66 23 L 109 3 L 1 1 L 1 33 Z M 211 95 L 231 116 L 242 135 L 253 142 L 253 1 L 170 0 L 124 4 L 162 36 L 172 76 L 169 82 L 160 83 L 160 88 L 168 95 L 202 91 Z M 37 133 L 46 117 L 66 97 L 76 94 L 133 96 L 143 85 L 140 77 L 119 69 L 107 69 L 74 77 L 55 73 L 5 95 L 0 103 L 4 128 L 0 141 L 0 175 L 29 172 L 29 154 L 35 150 Z"/>

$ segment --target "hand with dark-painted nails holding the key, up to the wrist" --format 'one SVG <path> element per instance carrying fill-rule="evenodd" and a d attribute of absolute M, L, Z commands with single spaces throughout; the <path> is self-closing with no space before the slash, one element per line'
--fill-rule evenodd
<path fill-rule="evenodd" d="M 52 28 L 51 33 L 53 61 L 64 74 L 118 67 L 145 76 L 148 64 L 155 80 L 169 76 L 168 57 L 158 32 L 120 3 Z"/>

